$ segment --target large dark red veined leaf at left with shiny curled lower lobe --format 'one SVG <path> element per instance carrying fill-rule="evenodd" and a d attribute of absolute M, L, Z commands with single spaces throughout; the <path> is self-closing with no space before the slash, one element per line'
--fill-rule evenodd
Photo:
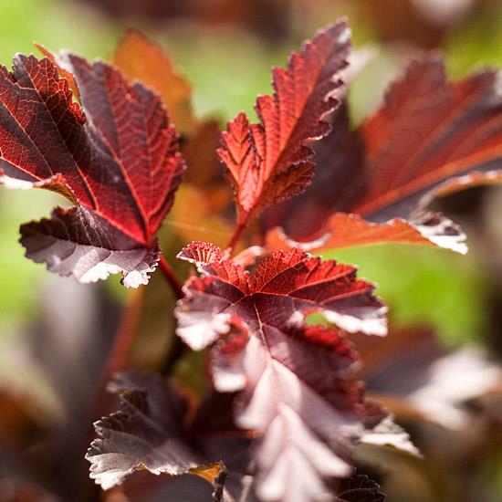
<path fill-rule="evenodd" d="M 0 68 L 0 181 L 77 204 L 23 227 L 27 256 L 83 282 L 120 272 L 126 286 L 146 284 L 159 255 L 154 234 L 184 172 L 177 135 L 160 99 L 117 69 L 70 54 L 60 62 L 83 110 L 49 59 L 20 55 L 12 73 Z"/>

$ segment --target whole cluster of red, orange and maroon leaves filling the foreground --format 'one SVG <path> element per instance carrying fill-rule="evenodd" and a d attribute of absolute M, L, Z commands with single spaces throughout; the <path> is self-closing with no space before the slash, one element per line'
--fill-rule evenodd
<path fill-rule="evenodd" d="M 178 297 L 173 360 L 206 351 L 203 394 L 159 374 L 110 383 L 120 409 L 95 424 L 90 476 L 110 489 L 137 470 L 192 474 L 225 501 L 381 501 L 355 473 L 356 446 L 420 456 L 357 373 L 351 337 L 385 336 L 387 309 L 356 267 L 311 253 L 390 242 L 465 253 L 461 228 L 429 204 L 500 182 L 498 73 L 448 82 L 442 58 L 425 55 L 352 129 L 358 55 L 341 19 L 273 69 L 256 122 L 240 113 L 220 135 L 136 32 L 112 63 L 39 48 L 45 58 L 0 68 L 0 183 L 70 206 L 22 225 L 26 256 L 82 283 L 120 274 L 126 288 L 159 267 Z M 162 256 L 164 221 L 185 245 L 183 287 Z"/>

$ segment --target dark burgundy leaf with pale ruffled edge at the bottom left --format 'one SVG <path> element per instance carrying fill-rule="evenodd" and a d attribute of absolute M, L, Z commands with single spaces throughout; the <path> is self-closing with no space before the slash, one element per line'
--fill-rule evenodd
<path fill-rule="evenodd" d="M 139 468 L 180 475 L 196 466 L 183 441 L 186 404 L 160 375 L 125 375 L 110 390 L 120 394 L 120 410 L 96 424 L 98 439 L 86 458 L 90 477 L 104 489 L 120 485 Z"/>

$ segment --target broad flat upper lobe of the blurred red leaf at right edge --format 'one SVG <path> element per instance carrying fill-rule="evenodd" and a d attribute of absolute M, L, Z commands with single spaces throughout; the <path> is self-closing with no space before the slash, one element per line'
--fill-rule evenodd
<path fill-rule="evenodd" d="M 374 221 L 407 217 L 421 197 L 441 189 L 500 179 L 500 77 L 485 70 L 447 83 L 436 56 L 414 61 L 360 131 L 366 145 L 367 190 L 350 207 Z M 473 175 L 474 172 L 474 175 Z M 481 176 L 483 174 L 483 176 Z M 460 178 L 459 178 L 460 177 Z"/>

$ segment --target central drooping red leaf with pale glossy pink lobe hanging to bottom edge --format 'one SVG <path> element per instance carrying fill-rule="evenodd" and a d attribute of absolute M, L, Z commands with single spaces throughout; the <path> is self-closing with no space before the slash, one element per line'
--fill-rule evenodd
<path fill-rule="evenodd" d="M 193 259 L 207 247 L 193 243 L 180 256 Z M 178 334 L 197 350 L 216 342 L 214 385 L 240 391 L 236 424 L 262 434 L 258 496 L 317 499 L 324 477 L 350 474 L 348 453 L 366 409 L 351 377 L 357 353 L 343 331 L 307 326 L 305 315 L 322 311 L 341 328 L 382 335 L 385 309 L 354 267 L 299 250 L 266 258 L 253 274 L 220 254 L 210 258 L 203 277 L 185 285 Z"/>

